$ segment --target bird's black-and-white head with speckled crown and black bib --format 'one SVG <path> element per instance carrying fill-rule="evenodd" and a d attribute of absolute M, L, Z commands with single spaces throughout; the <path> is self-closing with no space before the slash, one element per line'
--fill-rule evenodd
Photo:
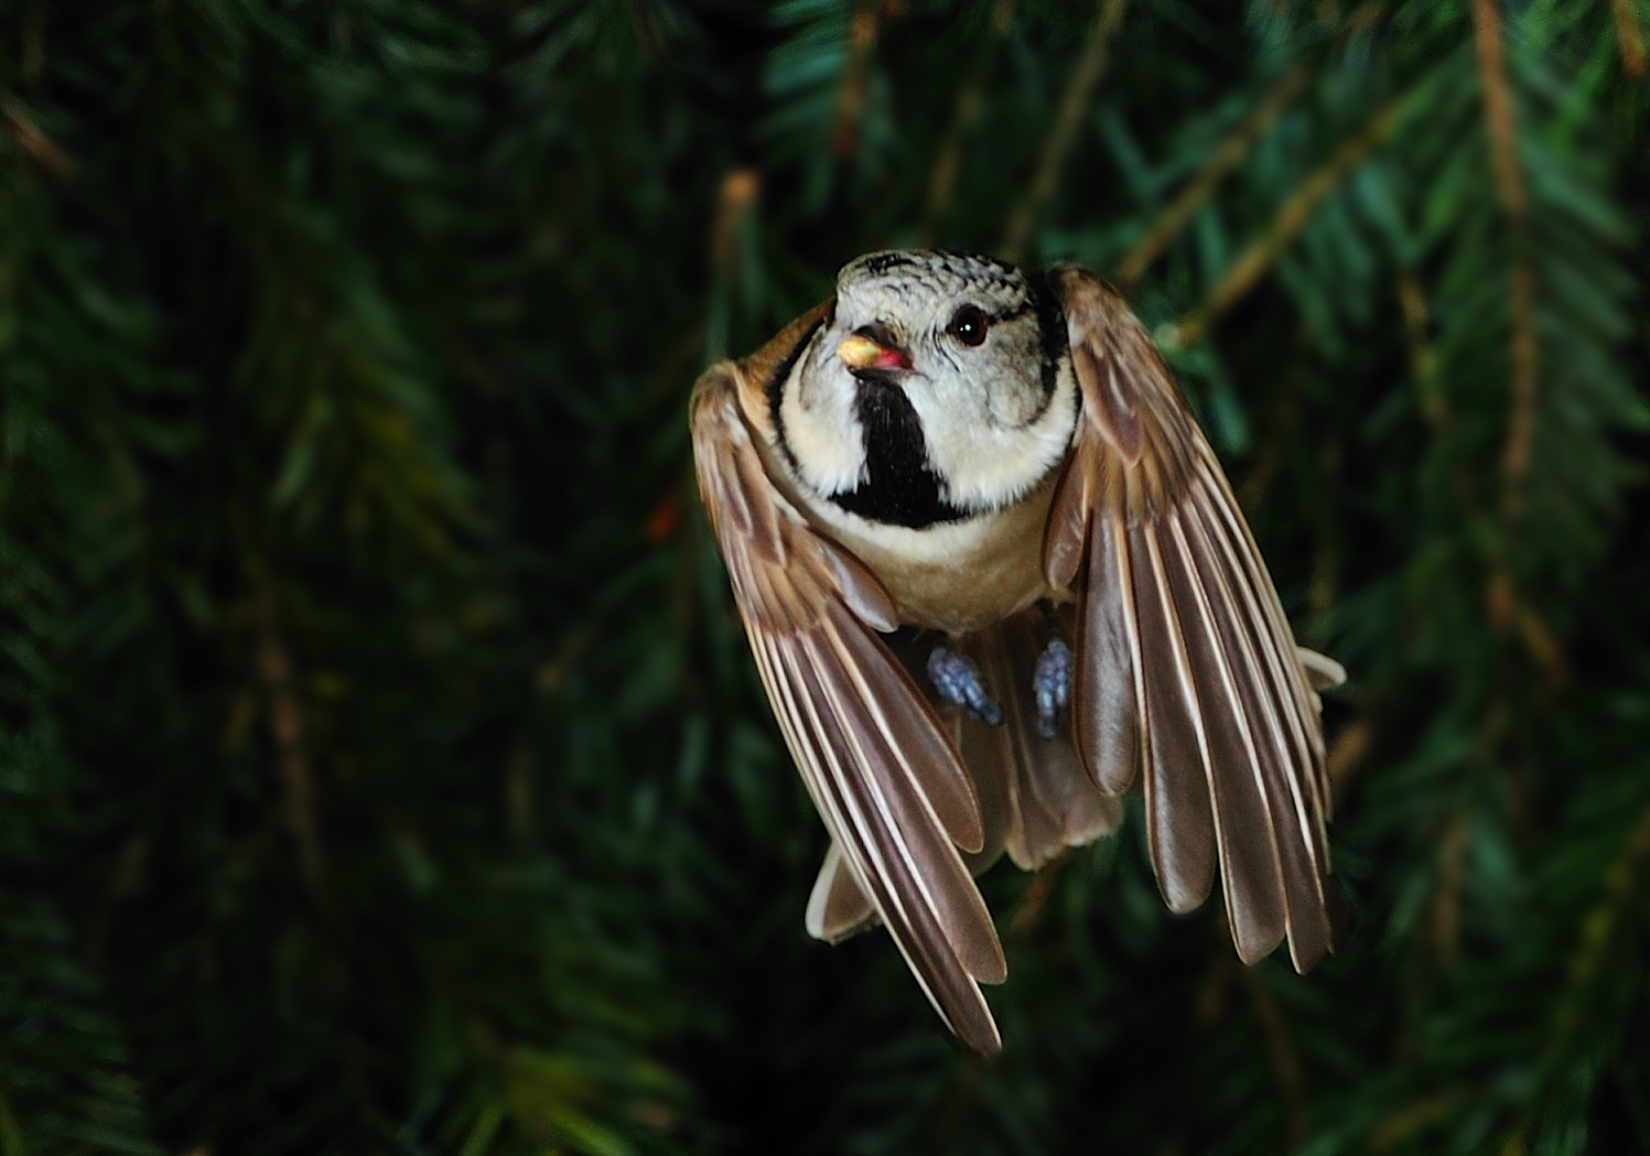
<path fill-rule="evenodd" d="M 820 496 L 921 528 L 1011 505 L 1076 424 L 1053 295 L 990 257 L 873 252 L 782 383 L 779 427 Z"/>

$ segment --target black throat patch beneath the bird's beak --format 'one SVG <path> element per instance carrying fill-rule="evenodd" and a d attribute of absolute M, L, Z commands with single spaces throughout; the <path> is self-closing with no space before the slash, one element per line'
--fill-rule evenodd
<path fill-rule="evenodd" d="M 865 430 L 866 478 L 855 490 L 832 495 L 848 513 L 893 526 L 922 529 L 967 518 L 939 496 L 939 477 L 929 468 L 922 422 L 906 391 L 879 374 L 861 371 L 855 416 Z"/>

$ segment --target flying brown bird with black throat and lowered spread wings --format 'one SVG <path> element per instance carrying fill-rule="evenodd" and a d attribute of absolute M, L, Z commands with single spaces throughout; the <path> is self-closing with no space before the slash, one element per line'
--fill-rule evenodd
<path fill-rule="evenodd" d="M 1238 955 L 1333 950 L 1318 691 L 1231 485 L 1124 297 L 1079 267 L 881 251 L 690 399 L 700 493 L 830 836 L 805 925 L 881 923 L 990 1057 L 975 876 L 1119 826 Z"/>

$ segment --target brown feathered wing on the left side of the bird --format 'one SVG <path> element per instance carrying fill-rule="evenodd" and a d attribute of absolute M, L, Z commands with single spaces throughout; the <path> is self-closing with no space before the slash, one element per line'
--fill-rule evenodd
<path fill-rule="evenodd" d="M 792 327 L 776 345 L 805 338 Z M 980 805 L 934 711 L 876 635 L 898 625 L 888 592 L 813 533 L 764 468 L 746 417 L 766 414 L 749 371 L 764 359 L 771 351 L 714 366 L 691 402 L 700 491 L 751 651 L 853 881 L 945 1024 L 992 1054 L 1002 1042 L 978 983 L 1002 983 L 1006 965 L 957 853 L 982 844 Z"/>

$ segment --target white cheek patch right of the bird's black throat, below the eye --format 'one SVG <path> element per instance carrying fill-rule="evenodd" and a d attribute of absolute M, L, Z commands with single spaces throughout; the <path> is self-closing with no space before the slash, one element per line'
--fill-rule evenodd
<path fill-rule="evenodd" d="M 974 406 L 942 404 L 932 391 L 911 391 L 942 496 L 965 510 L 997 510 L 1028 495 L 1071 445 L 1076 391 L 1076 376 L 1063 364 L 1054 396 L 1020 429 L 993 425 Z"/>

